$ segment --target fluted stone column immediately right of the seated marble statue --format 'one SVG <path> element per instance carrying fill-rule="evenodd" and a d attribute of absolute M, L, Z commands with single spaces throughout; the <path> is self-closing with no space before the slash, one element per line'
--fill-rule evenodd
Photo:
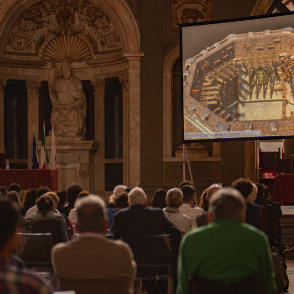
<path fill-rule="evenodd" d="M 105 191 L 105 138 L 104 138 L 104 88 L 105 80 L 92 81 L 94 87 L 95 141 L 99 142 L 99 150 L 95 153 L 95 192 Z"/>

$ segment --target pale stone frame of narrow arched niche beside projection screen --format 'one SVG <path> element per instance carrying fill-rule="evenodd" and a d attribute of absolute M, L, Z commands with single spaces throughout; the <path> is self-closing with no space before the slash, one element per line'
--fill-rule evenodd
<path fill-rule="evenodd" d="M 172 157 L 172 67 L 179 57 L 179 46 L 167 55 L 163 64 L 163 157 Z"/>

